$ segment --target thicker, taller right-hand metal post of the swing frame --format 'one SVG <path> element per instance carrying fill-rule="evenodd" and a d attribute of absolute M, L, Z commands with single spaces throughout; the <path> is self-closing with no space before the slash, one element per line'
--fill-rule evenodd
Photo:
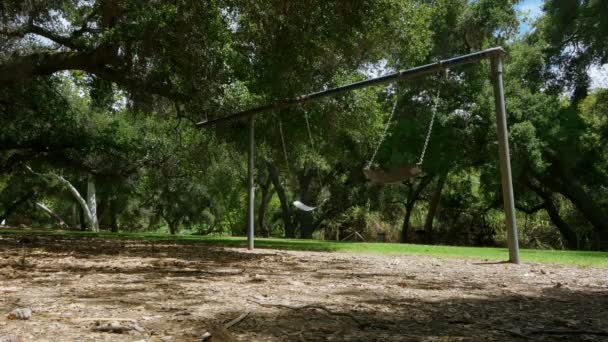
<path fill-rule="evenodd" d="M 515 197 L 513 194 L 513 179 L 511 176 L 511 160 L 509 157 L 509 135 L 507 132 L 505 94 L 502 84 L 502 59 L 501 54 L 499 53 L 492 58 L 492 79 L 494 83 L 494 104 L 496 107 L 496 130 L 498 134 L 502 199 L 507 219 L 509 262 L 519 264 L 519 242 L 517 239 L 517 223 L 515 221 Z"/>

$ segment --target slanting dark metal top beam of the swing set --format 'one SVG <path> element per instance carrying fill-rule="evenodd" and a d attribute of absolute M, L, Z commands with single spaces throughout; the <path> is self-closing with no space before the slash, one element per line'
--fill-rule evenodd
<path fill-rule="evenodd" d="M 495 48 L 491 48 L 491 49 L 487 49 L 487 50 L 483 50 L 483 51 L 479 51 L 479 52 L 474 52 L 474 53 L 471 53 L 468 55 L 463 55 L 463 56 L 458 56 L 458 57 L 442 60 L 442 61 L 439 61 L 436 63 L 422 65 L 422 66 L 415 67 L 412 69 L 397 71 L 397 72 L 394 72 L 394 73 L 391 73 L 391 74 L 388 74 L 385 76 L 371 78 L 371 79 L 367 79 L 364 81 L 359 81 L 359 82 L 343 85 L 343 86 L 332 88 L 332 89 L 317 91 L 317 92 L 306 94 L 306 95 L 300 95 L 300 96 L 297 96 L 297 97 L 294 97 L 291 99 L 280 100 L 275 103 L 247 109 L 242 112 L 223 116 L 221 118 L 201 121 L 201 122 L 197 123 L 196 126 L 197 127 L 208 127 L 208 126 L 212 126 L 212 125 L 215 125 L 218 123 L 222 123 L 224 121 L 229 121 L 229 120 L 238 119 L 238 118 L 245 118 L 245 117 L 249 117 L 249 116 L 255 115 L 257 113 L 261 113 L 261 112 L 282 109 L 282 108 L 285 108 L 285 107 L 288 107 L 288 106 L 291 106 L 294 104 L 309 102 L 309 101 L 319 99 L 322 97 L 327 97 L 327 96 L 344 93 L 344 92 L 347 92 L 350 90 L 361 89 L 361 88 L 365 88 L 365 87 L 369 87 L 369 86 L 381 84 L 381 83 L 388 83 L 388 82 L 399 80 L 399 79 L 407 79 L 407 78 L 427 75 L 427 74 L 435 73 L 435 72 L 438 72 L 441 70 L 449 69 L 449 68 L 452 68 L 455 66 L 474 63 L 474 62 L 477 62 L 482 59 L 488 59 L 488 58 L 493 58 L 495 56 L 501 56 L 504 53 L 505 53 L 505 51 L 503 50 L 502 47 L 495 47 Z"/>

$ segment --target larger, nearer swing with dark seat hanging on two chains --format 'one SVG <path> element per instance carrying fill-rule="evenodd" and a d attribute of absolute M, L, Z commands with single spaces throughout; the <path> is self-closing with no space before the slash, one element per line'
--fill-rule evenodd
<path fill-rule="evenodd" d="M 414 165 L 411 165 L 411 164 L 402 165 L 402 166 L 392 168 L 390 170 L 383 170 L 380 168 L 372 169 L 374 161 L 376 159 L 376 155 L 378 154 L 378 151 L 380 150 L 380 146 L 382 146 L 382 144 L 384 143 L 384 140 L 386 140 L 388 129 L 392 123 L 393 116 L 395 115 L 395 110 L 397 109 L 398 99 L 395 99 L 395 104 L 393 105 L 391 114 L 389 115 L 386 125 L 384 126 L 384 130 L 382 132 L 382 135 L 380 136 L 380 140 L 378 141 L 378 144 L 376 145 L 376 148 L 374 149 L 374 153 L 372 154 L 371 159 L 367 162 L 367 165 L 363 169 L 363 174 L 365 175 L 365 177 L 367 177 L 367 179 L 369 179 L 370 181 L 372 181 L 374 183 L 391 184 L 391 183 L 398 183 L 401 181 L 408 180 L 408 179 L 416 177 L 420 173 L 422 173 L 422 169 L 421 169 L 422 163 L 424 162 L 424 156 L 426 154 L 426 149 L 429 145 L 429 141 L 431 139 L 431 133 L 433 131 L 433 124 L 435 123 L 435 116 L 437 115 L 438 98 L 439 98 L 439 92 L 437 92 L 437 94 L 433 97 L 433 105 L 431 107 L 431 120 L 429 122 L 429 127 L 427 129 L 426 138 L 424 140 L 424 145 L 422 147 L 422 151 L 420 152 L 420 157 L 418 159 L 418 162 Z"/>

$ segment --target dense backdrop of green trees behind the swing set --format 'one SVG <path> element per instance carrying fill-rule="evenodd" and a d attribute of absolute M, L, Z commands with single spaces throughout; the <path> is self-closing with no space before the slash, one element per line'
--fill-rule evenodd
<path fill-rule="evenodd" d="M 196 122 L 502 45 L 522 243 L 605 246 L 608 95 L 589 69 L 608 7 L 547 0 L 520 33 L 517 3 L 4 1 L 0 222 L 55 225 L 45 203 L 73 228 L 242 234 L 246 123 Z M 259 115 L 256 233 L 504 243 L 489 76 L 483 62 Z M 380 186 L 361 169 L 393 105 L 379 167 L 416 162 L 437 118 L 423 174 Z"/>

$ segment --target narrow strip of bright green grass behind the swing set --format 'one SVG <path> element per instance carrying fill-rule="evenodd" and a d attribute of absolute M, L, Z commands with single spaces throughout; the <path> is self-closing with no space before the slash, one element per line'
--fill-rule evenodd
<path fill-rule="evenodd" d="M 226 247 L 245 247 L 247 243 L 245 238 L 242 237 L 198 235 L 171 236 L 159 233 L 91 233 L 78 231 L 0 229 L 0 236 L 1 235 L 50 235 L 84 239 L 108 238 L 123 240 L 145 240 L 150 242 L 166 241 L 174 243 L 194 243 Z M 414 245 L 369 242 L 333 242 L 291 239 L 256 239 L 256 247 L 323 252 L 372 253 L 389 255 L 428 255 L 434 257 L 467 258 L 488 261 L 501 261 L 507 259 L 508 256 L 508 251 L 506 248 L 454 247 L 439 245 Z M 522 262 L 539 262 L 563 265 L 576 265 L 583 267 L 608 268 L 608 252 L 522 249 L 520 252 L 520 256 Z"/>

